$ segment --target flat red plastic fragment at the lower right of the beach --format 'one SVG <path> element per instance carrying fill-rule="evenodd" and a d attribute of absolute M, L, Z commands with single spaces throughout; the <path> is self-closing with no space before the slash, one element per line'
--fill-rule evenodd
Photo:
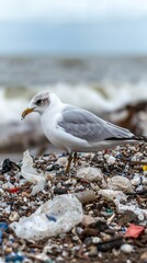
<path fill-rule="evenodd" d="M 138 238 L 140 236 L 140 233 L 143 233 L 145 230 L 145 227 L 143 226 L 136 226 L 134 224 L 132 224 L 126 232 L 125 232 L 125 238 Z"/>

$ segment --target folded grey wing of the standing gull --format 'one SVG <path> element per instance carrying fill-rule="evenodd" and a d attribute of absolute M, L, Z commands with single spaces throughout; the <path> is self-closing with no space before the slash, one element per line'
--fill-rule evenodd
<path fill-rule="evenodd" d="M 108 139 L 131 139 L 134 135 L 125 128 L 105 122 L 97 115 L 75 106 L 66 106 L 57 122 L 66 133 L 89 142 Z"/>

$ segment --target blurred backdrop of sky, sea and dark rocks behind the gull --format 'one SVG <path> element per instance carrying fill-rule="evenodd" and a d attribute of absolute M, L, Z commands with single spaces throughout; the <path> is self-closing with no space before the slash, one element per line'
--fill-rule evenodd
<path fill-rule="evenodd" d="M 147 135 L 146 85 L 146 0 L 0 1 L 0 161 L 44 152 L 37 114 L 21 122 L 44 90 Z"/>

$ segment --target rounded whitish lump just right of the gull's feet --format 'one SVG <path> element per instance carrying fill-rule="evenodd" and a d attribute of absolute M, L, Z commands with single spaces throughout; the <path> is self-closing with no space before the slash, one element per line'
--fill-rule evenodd
<path fill-rule="evenodd" d="M 100 169 L 93 167 L 83 167 L 77 171 L 78 179 L 82 179 L 87 182 L 102 182 L 103 174 Z"/>

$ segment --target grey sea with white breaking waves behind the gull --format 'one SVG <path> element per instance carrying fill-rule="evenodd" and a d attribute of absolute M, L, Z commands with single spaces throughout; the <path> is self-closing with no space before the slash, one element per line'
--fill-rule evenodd
<path fill-rule="evenodd" d="M 0 57 L 0 124 L 19 122 L 43 90 L 97 114 L 147 101 L 147 57 Z"/>

